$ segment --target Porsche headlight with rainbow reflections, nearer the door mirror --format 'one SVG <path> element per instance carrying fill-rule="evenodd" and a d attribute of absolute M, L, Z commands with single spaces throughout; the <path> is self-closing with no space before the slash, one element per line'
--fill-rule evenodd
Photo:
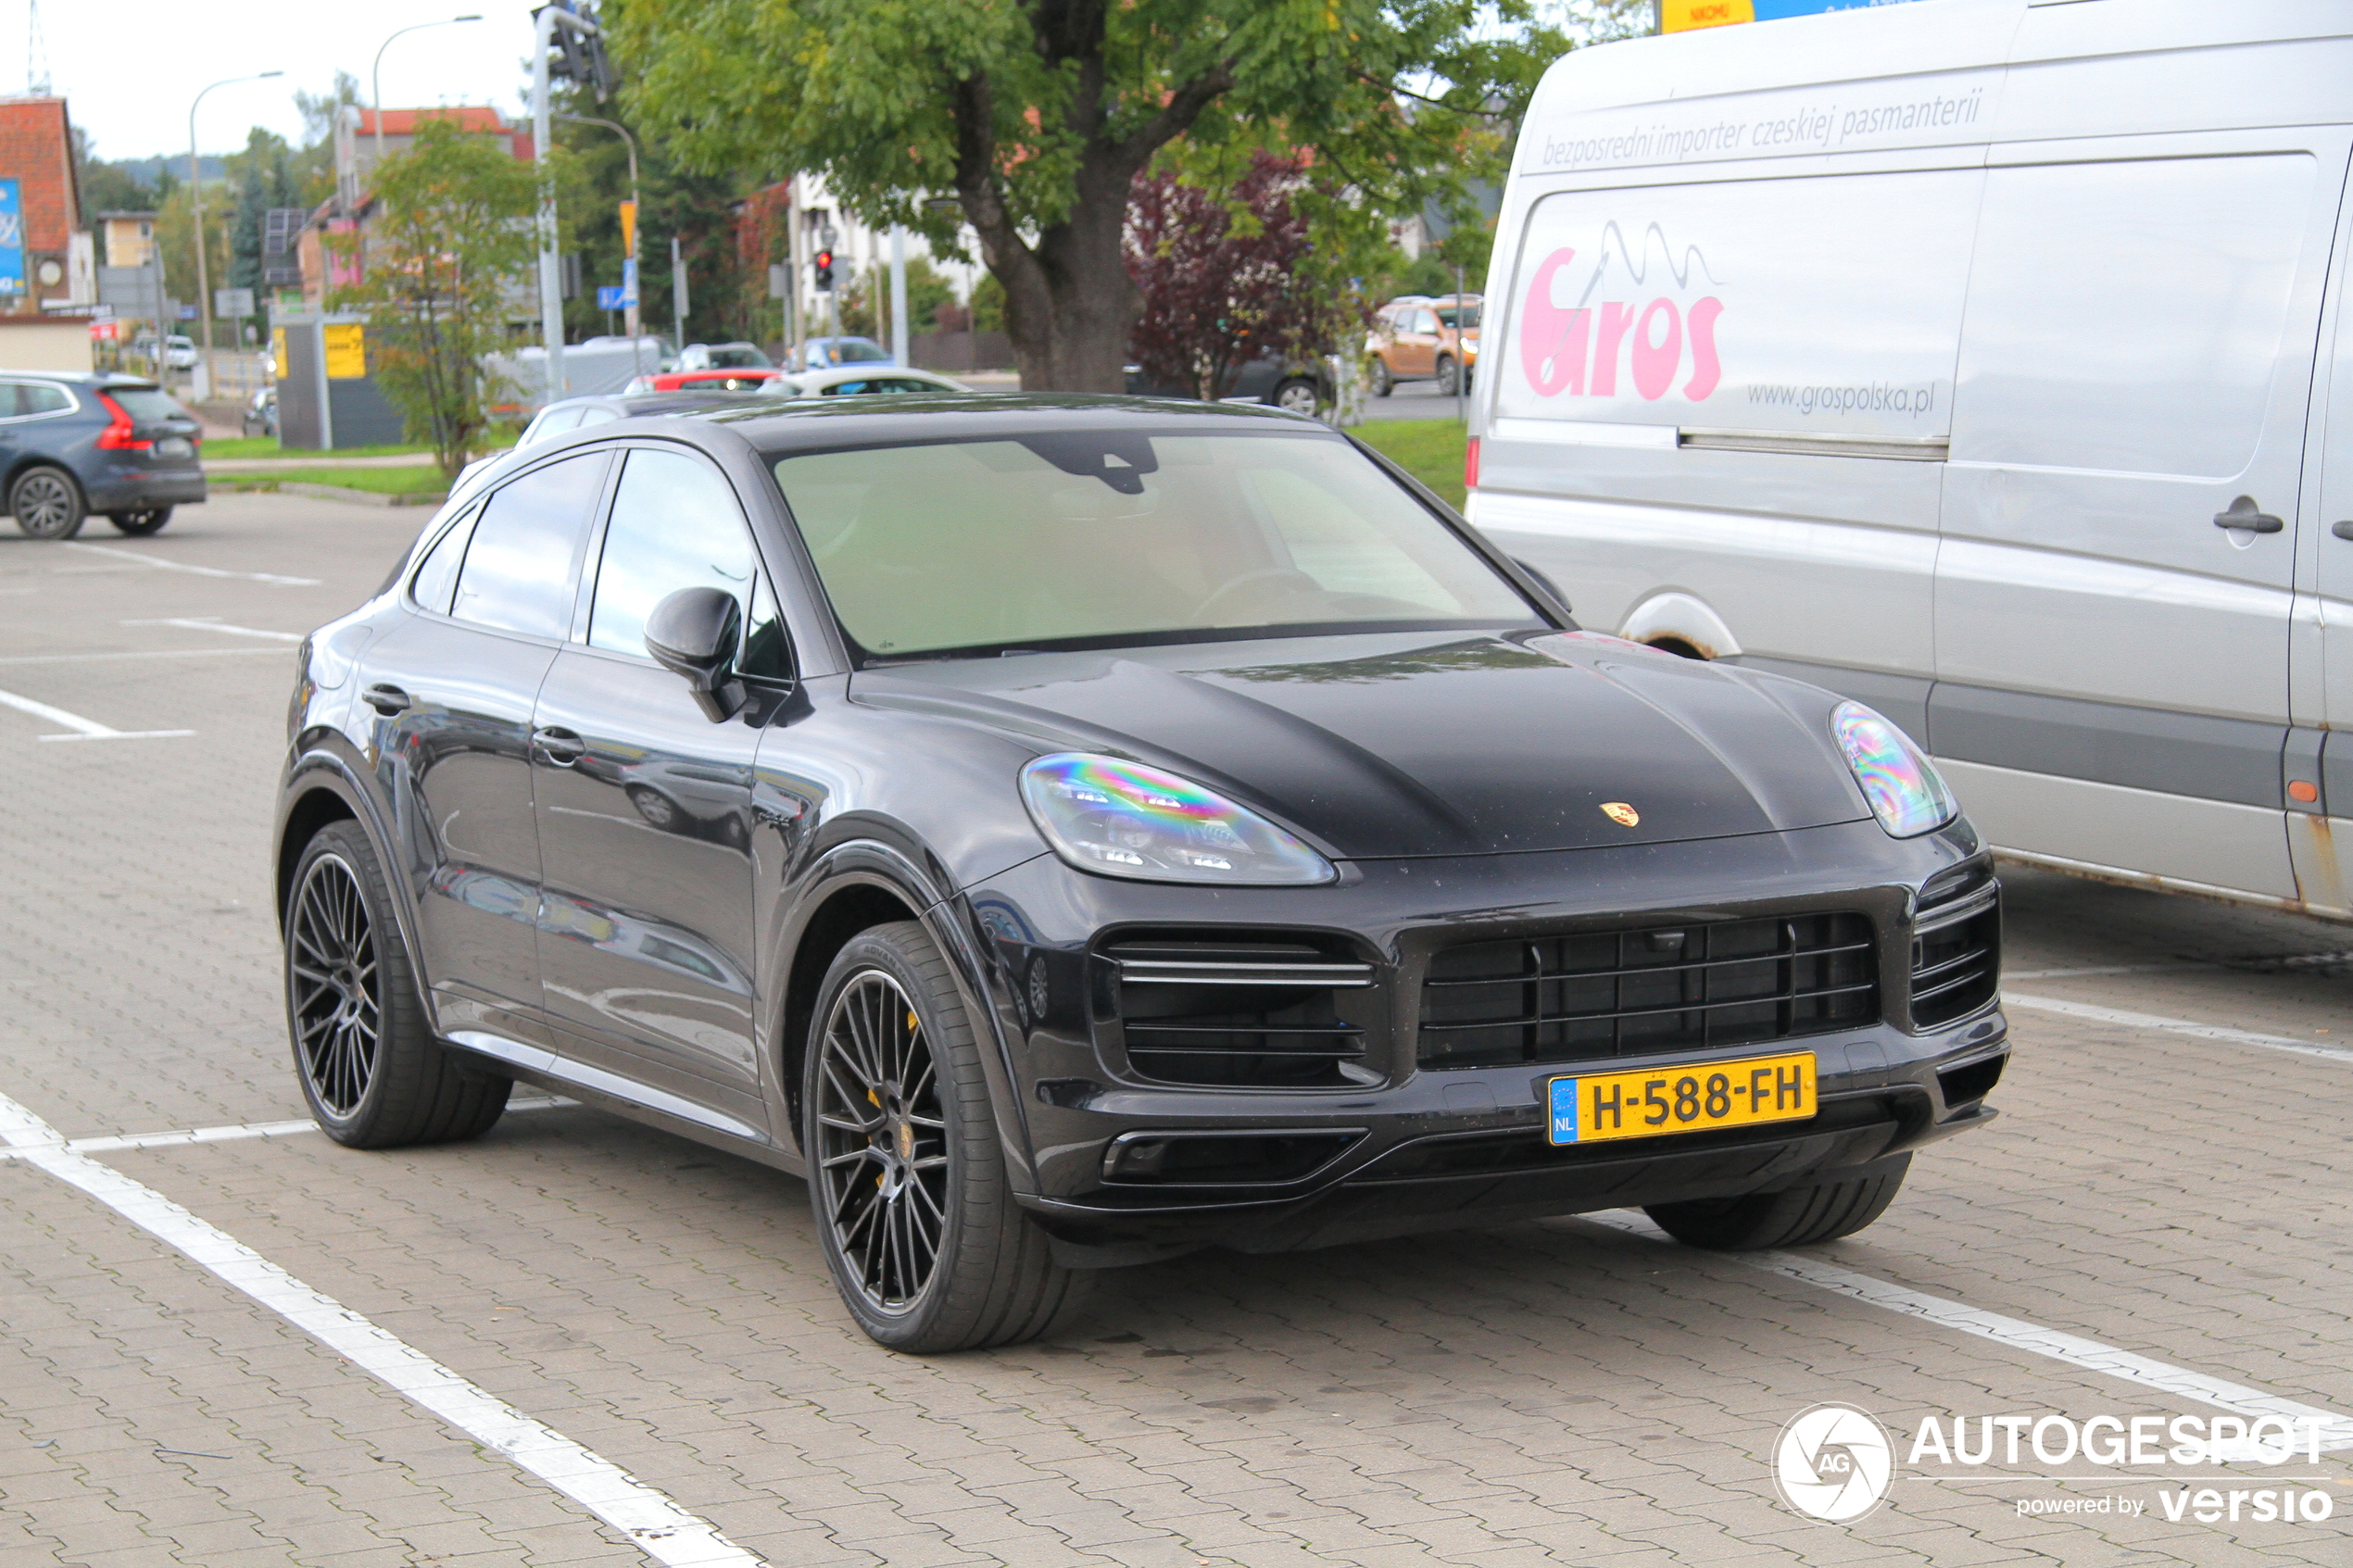
<path fill-rule="evenodd" d="M 1118 757 L 1056 752 L 1021 769 L 1021 799 L 1064 860 L 1139 882 L 1313 886 L 1339 877 L 1257 811 Z"/>

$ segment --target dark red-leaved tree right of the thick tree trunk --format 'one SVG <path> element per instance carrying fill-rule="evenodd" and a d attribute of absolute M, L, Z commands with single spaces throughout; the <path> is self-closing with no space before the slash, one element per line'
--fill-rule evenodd
<path fill-rule="evenodd" d="M 1273 153 L 1252 155 L 1231 197 L 1174 174 L 1136 176 L 1127 275 L 1144 315 L 1129 350 L 1148 381 L 1214 400 L 1261 353 L 1304 360 L 1362 331 L 1362 301 L 1313 266 L 1315 244 L 1294 202 L 1306 188 L 1301 165 Z"/>

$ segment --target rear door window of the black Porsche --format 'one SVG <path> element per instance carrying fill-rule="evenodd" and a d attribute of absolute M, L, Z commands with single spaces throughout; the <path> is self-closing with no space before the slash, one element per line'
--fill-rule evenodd
<path fill-rule="evenodd" d="M 607 463 L 609 454 L 584 451 L 499 487 L 473 524 L 449 614 L 501 632 L 569 632 L 574 571 Z"/>

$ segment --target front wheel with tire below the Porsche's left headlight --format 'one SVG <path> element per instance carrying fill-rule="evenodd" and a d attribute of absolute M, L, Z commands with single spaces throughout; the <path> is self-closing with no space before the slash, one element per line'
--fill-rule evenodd
<path fill-rule="evenodd" d="M 1012 1199 L 981 1048 L 920 924 L 849 938 L 802 1060 L 809 1204 L 871 1340 L 918 1356 L 1019 1345 L 1078 1307 L 1092 1274 L 1056 1265 Z"/>

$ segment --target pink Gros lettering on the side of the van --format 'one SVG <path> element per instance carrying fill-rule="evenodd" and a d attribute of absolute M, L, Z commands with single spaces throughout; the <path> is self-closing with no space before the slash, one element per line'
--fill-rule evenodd
<path fill-rule="evenodd" d="M 1640 308 L 1626 301 L 1602 301 L 1600 308 L 1574 306 L 1562 310 L 1553 303 L 1553 275 L 1577 259 L 1574 249 L 1558 249 L 1537 268 L 1527 287 L 1520 327 L 1520 369 L 1539 397 L 1617 397 L 1619 364 L 1633 376 L 1633 390 L 1657 402 L 1675 386 L 1675 374 L 1685 362 L 1689 341 L 1692 374 L 1682 383 L 1682 395 L 1704 400 L 1722 381 L 1715 362 L 1715 317 L 1725 313 L 1725 301 L 1708 294 L 1680 310 L 1675 301 L 1659 296 Z"/>

